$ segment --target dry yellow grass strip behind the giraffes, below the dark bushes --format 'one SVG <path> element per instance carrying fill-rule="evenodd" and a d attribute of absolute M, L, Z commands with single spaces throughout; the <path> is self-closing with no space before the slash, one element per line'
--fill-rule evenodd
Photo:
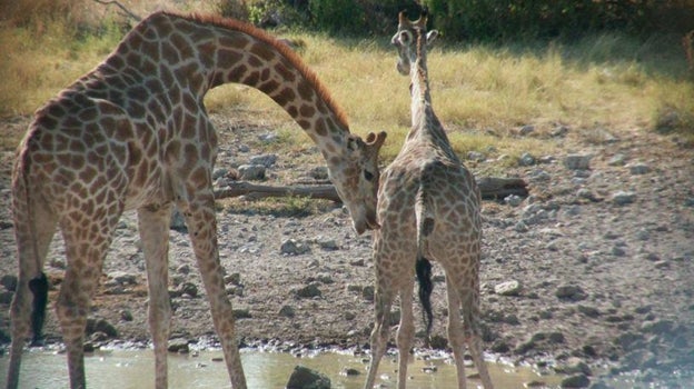
<path fill-rule="evenodd" d="M 0 118 L 32 112 L 116 46 L 122 34 L 112 22 L 116 17 L 99 18 L 111 21 L 98 34 L 80 36 L 66 27 L 71 24 L 46 19 L 0 28 Z M 388 131 L 384 157 L 393 158 L 410 122 L 409 80 L 395 70 L 387 38 L 298 38 L 306 43 L 303 57 L 347 111 L 353 131 Z M 533 124 L 541 136 L 557 123 L 618 132 L 660 128 L 664 117 L 676 120 L 672 131 L 662 132 L 675 131 L 694 142 L 694 80 L 681 42 L 667 44 L 601 36 L 573 46 L 435 48 L 428 62 L 434 106 L 459 152 L 493 148 L 494 154 L 514 157 L 557 147 L 547 139 L 512 137 L 524 124 Z M 210 112 L 252 110 L 255 120 L 286 130 L 286 147 L 310 147 L 290 118 L 256 90 L 225 86 L 206 102 Z"/>

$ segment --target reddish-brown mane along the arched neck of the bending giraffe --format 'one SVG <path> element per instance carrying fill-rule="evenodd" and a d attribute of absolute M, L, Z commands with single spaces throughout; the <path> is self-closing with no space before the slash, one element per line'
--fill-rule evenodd
<path fill-rule="evenodd" d="M 339 121 L 339 123 L 349 132 L 349 123 L 347 121 L 347 114 L 345 111 L 337 104 L 328 89 L 320 82 L 318 76 L 304 62 L 301 57 L 297 54 L 294 50 L 291 50 L 286 43 L 277 40 L 274 36 L 261 30 L 250 23 L 246 23 L 236 19 L 222 18 L 217 14 L 204 14 L 198 12 L 192 13 L 179 13 L 175 11 L 162 11 L 171 17 L 182 18 L 196 23 L 201 24 L 212 24 L 220 28 L 225 28 L 228 30 L 240 31 L 242 33 L 249 34 L 258 40 L 270 44 L 274 47 L 282 57 L 285 57 L 289 63 L 291 63 L 301 76 L 316 89 L 318 97 L 320 97 L 328 108 L 335 113 L 335 117 Z"/>

